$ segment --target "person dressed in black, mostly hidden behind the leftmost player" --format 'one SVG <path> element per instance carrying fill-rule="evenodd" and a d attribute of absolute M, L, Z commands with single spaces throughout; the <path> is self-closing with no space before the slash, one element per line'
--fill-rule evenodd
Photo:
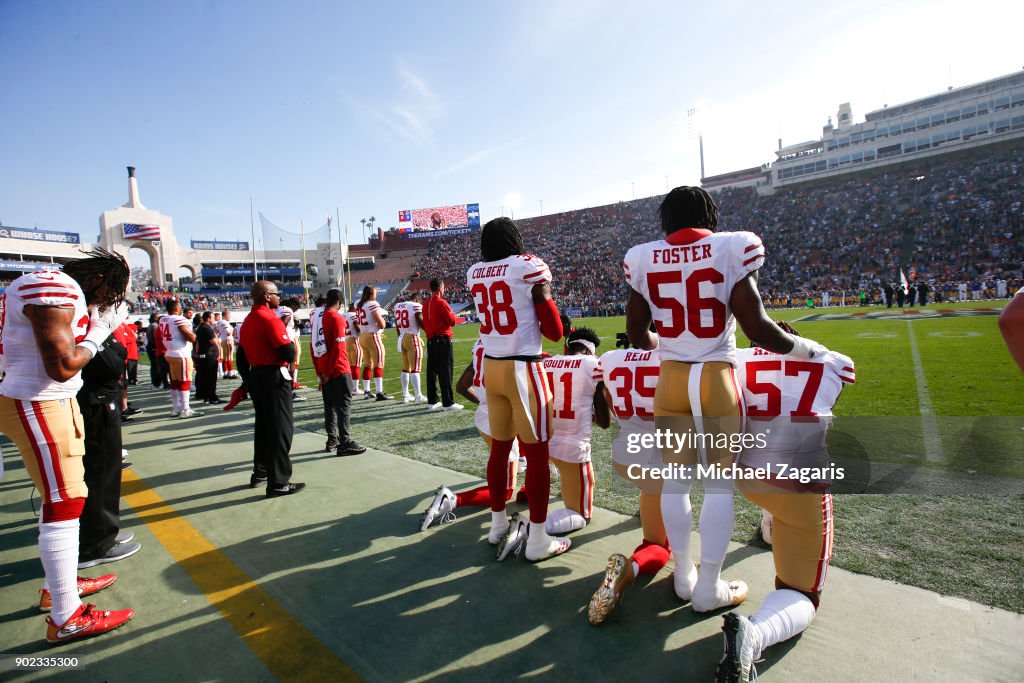
<path fill-rule="evenodd" d="M 114 336 L 106 338 L 82 369 L 78 404 L 85 426 L 85 485 L 78 568 L 117 562 L 142 547 L 135 535 L 121 531 L 121 373 L 128 351 Z"/>

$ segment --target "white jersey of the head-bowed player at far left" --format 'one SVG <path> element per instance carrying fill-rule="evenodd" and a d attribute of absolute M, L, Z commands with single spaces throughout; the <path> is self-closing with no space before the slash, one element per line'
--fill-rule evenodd
<path fill-rule="evenodd" d="M 22 275 L 0 297 L 0 356 L 6 375 L 0 394 L 22 400 L 71 398 L 82 388 L 82 375 L 56 382 L 46 375 L 43 356 L 32 331 L 25 306 L 59 306 L 73 310 L 71 327 L 78 343 L 89 329 L 85 294 L 70 275 L 59 270 L 40 270 Z"/>

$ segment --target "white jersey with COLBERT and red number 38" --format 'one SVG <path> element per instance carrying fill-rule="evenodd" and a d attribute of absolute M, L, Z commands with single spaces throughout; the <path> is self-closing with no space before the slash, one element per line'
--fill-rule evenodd
<path fill-rule="evenodd" d="M 539 256 L 520 254 L 480 261 L 466 272 L 480 318 L 480 338 L 492 358 L 540 358 L 543 340 L 534 308 L 535 285 L 551 282 Z"/>

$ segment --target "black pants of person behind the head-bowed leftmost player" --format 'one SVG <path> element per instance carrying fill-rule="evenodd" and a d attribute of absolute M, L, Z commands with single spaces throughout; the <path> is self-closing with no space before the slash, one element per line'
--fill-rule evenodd
<path fill-rule="evenodd" d="M 85 425 L 85 485 L 89 495 L 82 508 L 78 555 L 92 559 L 114 546 L 121 529 L 121 400 L 80 402 Z"/>

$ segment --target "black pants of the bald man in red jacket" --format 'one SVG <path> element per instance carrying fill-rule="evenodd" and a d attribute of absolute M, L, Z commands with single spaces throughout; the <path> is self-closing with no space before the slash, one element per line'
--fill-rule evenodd
<path fill-rule="evenodd" d="M 255 366 L 249 378 L 249 395 L 256 412 L 253 473 L 267 477 L 270 486 L 284 486 L 292 478 L 292 380 L 276 366 Z"/>

